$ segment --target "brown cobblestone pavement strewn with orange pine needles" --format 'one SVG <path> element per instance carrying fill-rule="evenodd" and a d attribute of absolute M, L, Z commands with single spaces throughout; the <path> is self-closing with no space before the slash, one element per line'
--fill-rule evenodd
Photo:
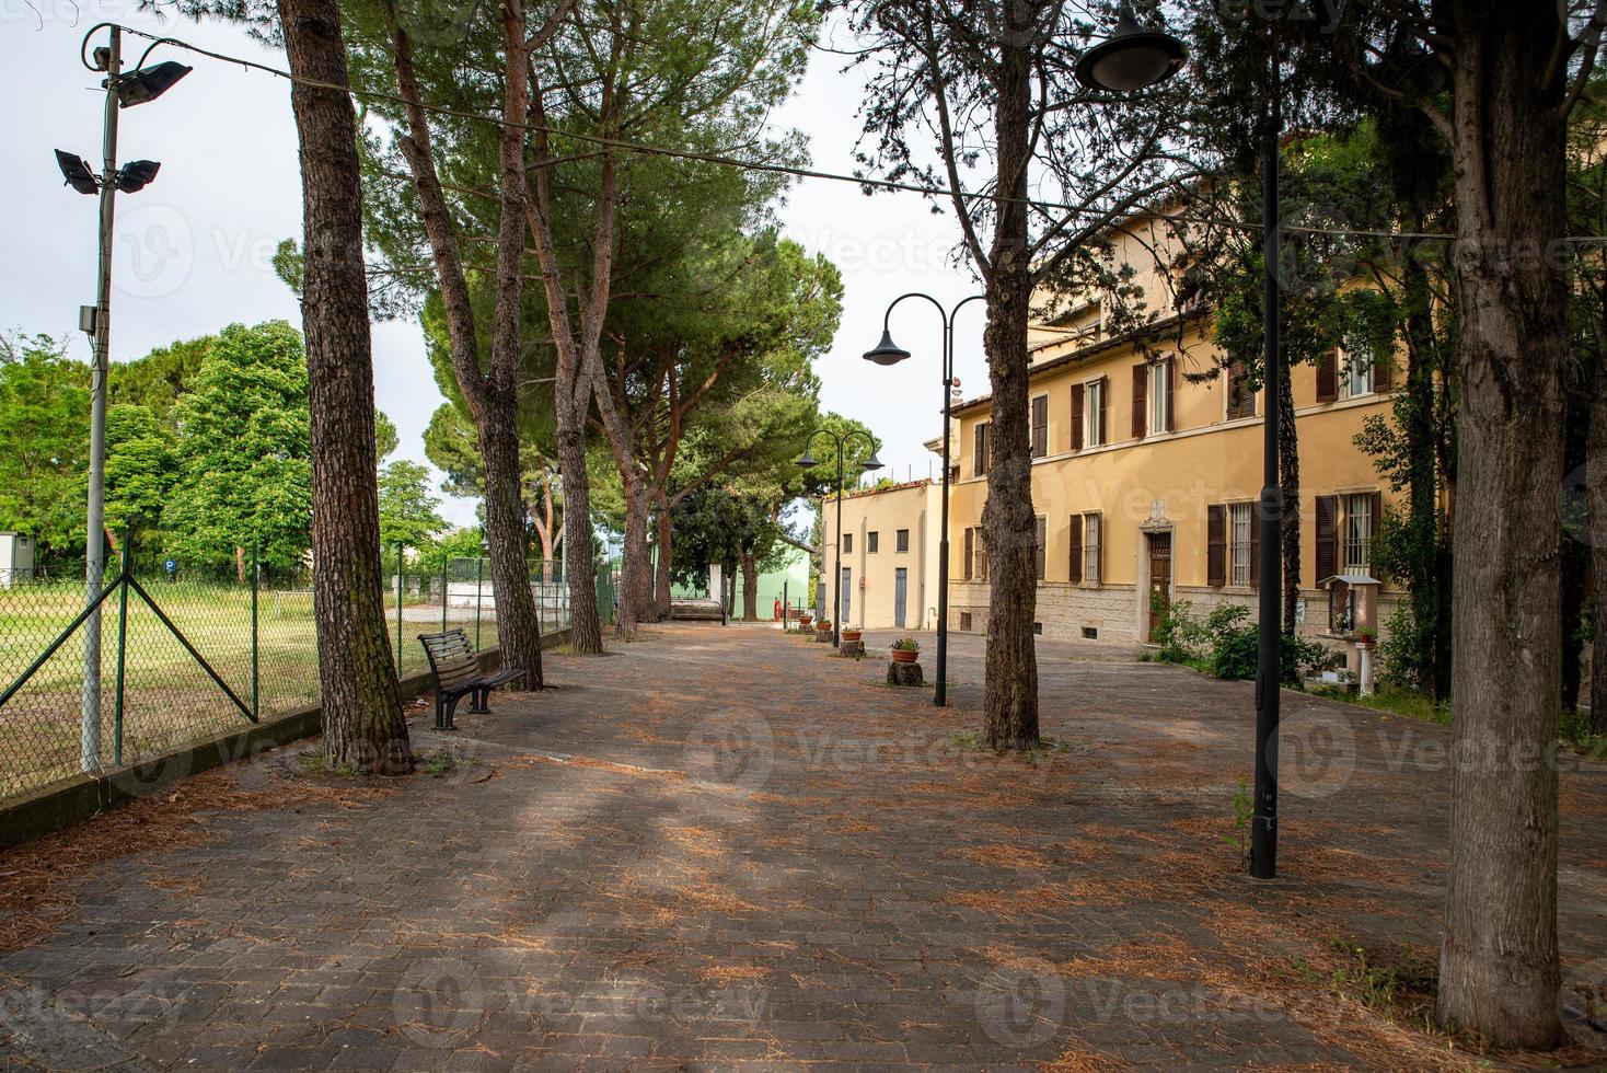
<path fill-rule="evenodd" d="M 1054 747 L 998 758 L 964 737 L 980 646 L 937 710 L 879 657 L 659 626 L 456 732 L 418 713 L 434 774 L 270 753 L 0 855 L 0 1068 L 1469 1063 L 1347 983 L 1358 946 L 1435 959 L 1443 728 L 1290 694 L 1255 885 L 1249 684 L 1045 644 Z M 1578 977 L 1607 769 L 1567 763 L 1562 803 Z"/>

